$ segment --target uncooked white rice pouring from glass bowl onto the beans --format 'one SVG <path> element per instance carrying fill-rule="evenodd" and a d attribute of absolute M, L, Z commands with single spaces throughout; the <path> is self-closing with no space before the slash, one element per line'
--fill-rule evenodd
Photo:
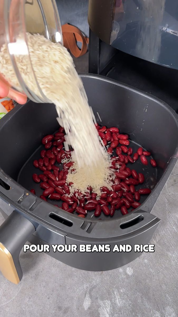
<path fill-rule="evenodd" d="M 93 192 L 100 195 L 100 187 L 111 189 L 110 159 L 99 140 L 95 120 L 71 55 L 62 45 L 53 43 L 40 35 L 27 33 L 30 58 L 37 81 L 43 93 L 56 106 L 58 121 L 66 132 L 66 142 L 72 146 L 72 161 L 67 182 L 73 182 L 71 191 L 80 190 L 82 193 L 91 186 Z M 20 73 L 29 88 L 39 94 L 31 74 L 28 57 L 16 55 Z M 8 51 L 4 45 L 0 52 L 1 73 L 19 87 L 14 70 L 11 66 Z M 71 173 L 71 169 L 75 172 Z"/>

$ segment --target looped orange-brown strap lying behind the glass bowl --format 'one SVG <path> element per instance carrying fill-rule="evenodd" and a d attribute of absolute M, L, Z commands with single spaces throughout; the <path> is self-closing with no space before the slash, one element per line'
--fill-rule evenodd
<path fill-rule="evenodd" d="M 89 38 L 83 36 L 78 28 L 70 24 L 64 24 L 62 25 L 62 35 L 64 46 L 70 50 L 73 56 L 80 57 L 86 53 Z M 82 43 L 81 49 L 78 48 L 76 42 Z"/>

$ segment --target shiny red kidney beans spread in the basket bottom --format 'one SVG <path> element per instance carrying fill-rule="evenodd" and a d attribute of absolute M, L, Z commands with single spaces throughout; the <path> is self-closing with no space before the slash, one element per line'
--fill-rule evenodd
<path fill-rule="evenodd" d="M 133 153 L 131 147 L 129 147 L 130 141 L 127 134 L 120 134 L 117 127 L 106 128 L 106 126 L 96 125 L 99 136 L 103 140 L 105 146 L 107 146 L 107 152 L 111 154 L 111 168 L 115 169 L 116 178 L 113 180 L 112 189 L 110 191 L 106 187 L 102 187 L 102 194 L 100 199 L 97 200 L 97 194 L 92 193 L 92 188 L 88 187 L 89 193 L 83 195 L 76 192 L 73 196 L 68 197 L 70 189 L 67 185 L 67 173 L 68 169 L 73 165 L 73 162 L 63 164 L 63 169 L 60 170 L 62 159 L 69 159 L 71 152 L 64 150 L 64 128 L 60 127 L 59 132 L 54 135 L 47 135 L 43 137 L 42 144 L 44 145 L 41 150 L 41 158 L 34 160 L 33 164 L 38 168 L 41 173 L 33 174 L 33 180 L 39 183 L 40 187 L 44 190 L 40 196 L 43 200 L 47 201 L 47 197 L 50 200 L 62 200 L 62 209 L 70 213 L 77 212 L 79 217 L 86 217 L 87 211 L 94 210 L 94 216 L 99 217 L 101 212 L 106 216 L 113 216 L 116 210 L 121 210 L 123 215 L 128 213 L 128 209 L 132 207 L 134 210 L 140 203 L 140 195 L 148 195 L 151 190 L 149 188 L 143 188 L 137 190 L 138 184 L 143 184 L 145 181 L 143 173 L 137 173 L 133 168 L 127 167 L 128 162 L 134 164 L 135 161 L 140 159 L 143 165 L 151 164 L 156 167 L 156 161 L 148 157 L 150 152 L 144 151 L 142 147 L 137 149 L 136 153 Z M 113 156 L 115 149 L 116 156 Z M 131 156 L 133 154 L 133 156 Z M 118 167 L 118 164 L 120 167 Z M 62 165 L 61 165 L 62 166 Z M 35 190 L 30 190 L 35 194 Z M 109 207 L 110 205 L 110 207 Z M 58 205 L 55 205 L 58 207 Z"/>

